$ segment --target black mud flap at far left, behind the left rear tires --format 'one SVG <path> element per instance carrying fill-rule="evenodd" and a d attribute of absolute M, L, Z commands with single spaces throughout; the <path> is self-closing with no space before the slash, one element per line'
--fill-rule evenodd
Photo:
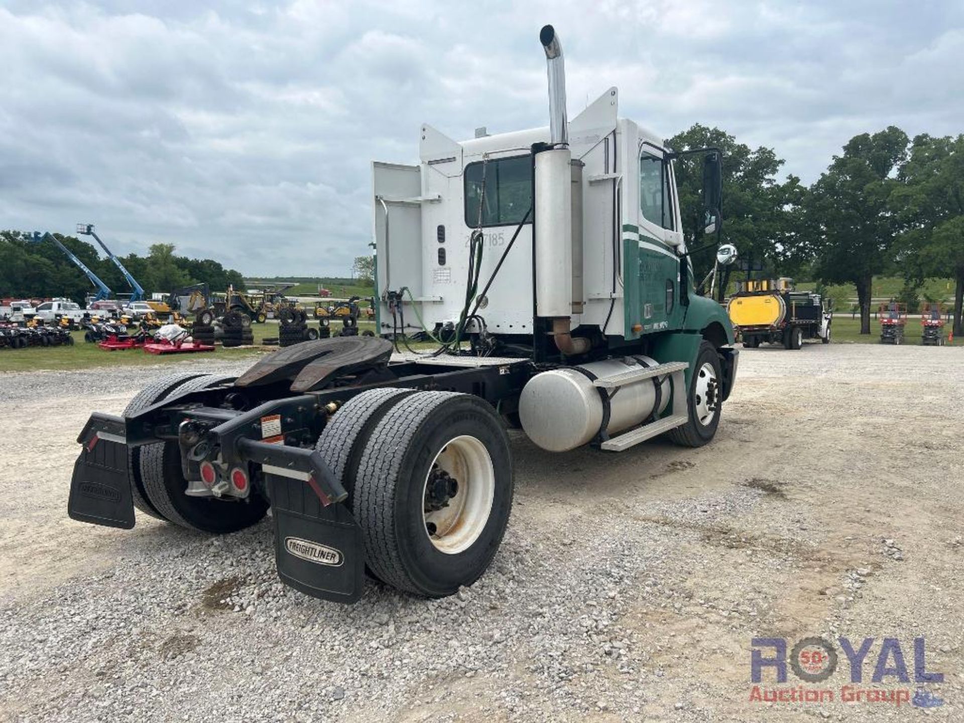
<path fill-rule="evenodd" d="M 79 522 L 130 529 L 134 500 L 123 417 L 94 413 L 77 442 L 84 448 L 73 465 L 67 515 Z"/>

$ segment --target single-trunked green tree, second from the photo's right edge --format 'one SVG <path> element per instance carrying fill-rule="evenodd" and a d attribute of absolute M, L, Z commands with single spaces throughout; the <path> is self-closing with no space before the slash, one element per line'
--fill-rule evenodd
<path fill-rule="evenodd" d="M 893 125 L 854 136 L 811 186 L 806 200 L 815 272 L 822 281 L 852 282 L 857 287 L 861 334 L 870 334 L 873 276 L 891 261 L 897 219 L 889 199 L 907 143 L 907 134 Z"/>

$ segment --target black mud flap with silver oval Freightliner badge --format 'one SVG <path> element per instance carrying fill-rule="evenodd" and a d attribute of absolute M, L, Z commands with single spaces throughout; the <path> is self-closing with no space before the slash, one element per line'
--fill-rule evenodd
<path fill-rule="evenodd" d="M 362 530 L 343 504 L 323 506 L 301 479 L 266 474 L 281 581 L 306 595 L 355 603 L 364 590 Z"/>

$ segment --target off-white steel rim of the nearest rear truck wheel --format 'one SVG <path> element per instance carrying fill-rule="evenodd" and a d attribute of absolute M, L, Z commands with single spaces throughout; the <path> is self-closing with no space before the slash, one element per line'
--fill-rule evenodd
<path fill-rule="evenodd" d="M 425 512 L 424 499 L 435 469 L 455 478 L 458 490 L 446 507 Z M 422 529 L 432 546 L 450 555 L 469 549 L 489 522 L 495 499 L 495 468 L 485 444 L 469 435 L 443 444 L 425 475 L 421 498 Z M 435 534 L 429 533 L 429 523 L 435 525 Z"/>

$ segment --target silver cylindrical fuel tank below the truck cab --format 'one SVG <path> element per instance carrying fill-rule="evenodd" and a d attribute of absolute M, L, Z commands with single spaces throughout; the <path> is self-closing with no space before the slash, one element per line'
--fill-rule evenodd
<path fill-rule="evenodd" d="M 565 452 L 591 442 L 600 432 L 604 417 L 601 389 L 593 385 L 592 378 L 606 379 L 649 366 L 656 366 L 656 361 L 635 356 L 536 374 L 522 388 L 522 430 L 532 442 L 550 452 Z M 671 384 L 668 376 L 663 376 L 662 381 L 651 377 L 620 387 L 616 393 L 613 389 L 603 391 L 609 394 L 605 429 L 611 436 L 641 423 L 653 414 L 654 408 L 662 414 L 669 402 Z"/>

